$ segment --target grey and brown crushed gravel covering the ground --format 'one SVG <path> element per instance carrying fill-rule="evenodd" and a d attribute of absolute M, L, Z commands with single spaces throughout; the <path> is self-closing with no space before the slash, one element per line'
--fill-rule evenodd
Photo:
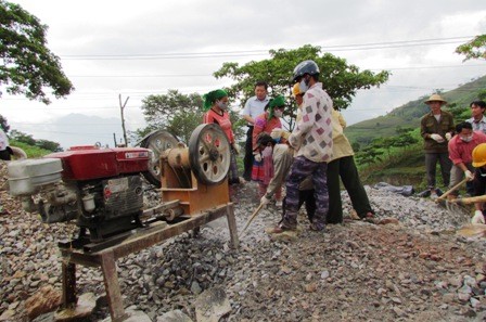
<path fill-rule="evenodd" d="M 225 321 L 483 321 L 486 244 L 453 233 L 468 222 L 469 211 L 367 191 L 378 219 L 392 217 L 399 224 L 346 218 L 321 234 L 307 229 L 302 214 L 296 240 L 272 241 L 264 230 L 279 220 L 280 211 L 270 206 L 234 250 L 222 218 L 196 236 L 183 233 L 119 259 L 124 304 L 152 321 L 176 309 L 195 321 L 197 295 L 220 286 L 232 308 Z M 42 224 L 7 192 L 0 191 L 0 196 L 8 211 L 0 215 L 0 317 L 26 321 L 24 304 L 29 296 L 46 285 L 61 289 L 56 242 L 77 230 L 66 223 Z M 236 202 L 241 230 L 257 207 L 256 186 L 240 186 Z M 343 203 L 349 214 L 345 192 Z M 79 293 L 103 295 L 99 269 L 78 266 L 77 273 Z M 102 306 L 91 320 L 106 317 Z"/>

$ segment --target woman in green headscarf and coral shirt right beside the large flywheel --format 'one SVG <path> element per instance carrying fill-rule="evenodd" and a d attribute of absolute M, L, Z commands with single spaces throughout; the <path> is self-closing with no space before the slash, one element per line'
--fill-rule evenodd
<path fill-rule="evenodd" d="M 204 114 L 203 123 L 219 125 L 226 133 L 228 141 L 231 144 L 231 159 L 229 170 L 229 183 L 241 183 L 244 180 L 238 176 L 236 154 L 240 153 L 240 146 L 234 141 L 233 130 L 231 128 L 230 115 L 228 113 L 228 93 L 225 90 L 218 89 L 210 91 L 203 95 Z"/>

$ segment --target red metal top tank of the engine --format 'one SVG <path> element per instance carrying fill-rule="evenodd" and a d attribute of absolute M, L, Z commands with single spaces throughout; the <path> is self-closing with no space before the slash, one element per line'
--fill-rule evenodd
<path fill-rule="evenodd" d="M 150 150 L 142 147 L 100 149 L 73 146 L 65 152 L 46 155 L 60 158 L 64 180 L 93 180 L 149 170 Z"/>

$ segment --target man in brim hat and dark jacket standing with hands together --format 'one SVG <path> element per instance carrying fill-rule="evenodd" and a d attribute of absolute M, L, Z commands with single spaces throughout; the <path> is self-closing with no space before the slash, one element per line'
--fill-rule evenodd
<path fill-rule="evenodd" d="M 444 185 L 449 185 L 452 163 L 449 159 L 447 141 L 452 137 L 455 126 L 452 114 L 442 110 L 447 102 L 439 94 L 431 95 L 424 103 L 430 106 L 431 112 L 420 120 L 420 134 L 424 140 L 427 189 L 431 191 L 431 197 L 436 198 L 435 168 L 437 162 L 440 165 Z"/>

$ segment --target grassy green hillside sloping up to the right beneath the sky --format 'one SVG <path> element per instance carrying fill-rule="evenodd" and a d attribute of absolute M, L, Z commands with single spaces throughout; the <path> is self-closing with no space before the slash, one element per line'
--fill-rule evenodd
<path fill-rule="evenodd" d="M 457 106 L 468 108 L 469 104 L 477 100 L 477 94 L 485 89 L 486 76 L 483 76 L 440 95 L 448 103 L 456 103 Z M 366 145 L 374 138 L 396 136 L 397 127 L 419 128 L 420 118 L 430 111 L 429 106 L 423 103 L 427 98 L 429 95 L 418 98 L 384 116 L 354 124 L 345 129 L 346 137 L 351 142 Z"/>

